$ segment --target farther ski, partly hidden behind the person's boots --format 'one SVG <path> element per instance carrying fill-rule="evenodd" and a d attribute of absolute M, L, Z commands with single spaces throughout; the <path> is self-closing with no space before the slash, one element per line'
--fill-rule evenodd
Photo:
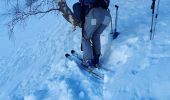
<path fill-rule="evenodd" d="M 78 54 L 75 50 L 71 50 L 71 54 L 72 54 L 73 56 L 77 57 L 79 60 L 83 60 L 82 57 L 81 57 L 81 55 Z M 101 64 L 100 64 L 99 67 L 97 67 L 97 68 L 98 68 L 98 69 L 103 69 L 103 70 L 105 70 L 105 71 L 110 71 L 110 72 L 112 72 L 111 69 L 105 68 L 105 67 L 103 67 Z M 114 71 L 113 71 L 113 72 L 114 72 Z"/>

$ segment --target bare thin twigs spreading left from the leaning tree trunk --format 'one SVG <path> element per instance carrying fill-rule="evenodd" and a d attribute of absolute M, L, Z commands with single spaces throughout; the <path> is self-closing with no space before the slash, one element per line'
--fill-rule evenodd
<path fill-rule="evenodd" d="M 10 10 L 6 15 L 12 16 L 7 23 L 9 28 L 9 39 L 14 35 L 14 28 L 18 23 L 23 23 L 29 17 L 36 15 L 46 15 L 51 12 L 57 12 L 59 9 L 57 0 L 6 0 Z"/>

